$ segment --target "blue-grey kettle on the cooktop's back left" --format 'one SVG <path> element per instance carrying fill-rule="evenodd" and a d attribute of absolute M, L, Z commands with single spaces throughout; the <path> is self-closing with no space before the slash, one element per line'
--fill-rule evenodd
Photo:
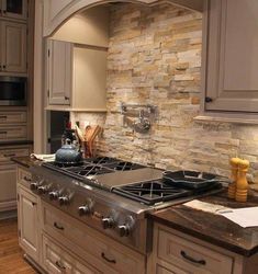
<path fill-rule="evenodd" d="M 66 144 L 56 151 L 55 162 L 68 165 L 80 163 L 82 155 L 69 139 L 66 139 Z"/>

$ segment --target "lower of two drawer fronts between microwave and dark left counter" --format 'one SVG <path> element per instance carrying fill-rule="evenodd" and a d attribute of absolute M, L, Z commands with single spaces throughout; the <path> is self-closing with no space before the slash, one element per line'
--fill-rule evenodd
<path fill-rule="evenodd" d="M 0 141 L 26 139 L 26 126 L 1 127 Z"/>

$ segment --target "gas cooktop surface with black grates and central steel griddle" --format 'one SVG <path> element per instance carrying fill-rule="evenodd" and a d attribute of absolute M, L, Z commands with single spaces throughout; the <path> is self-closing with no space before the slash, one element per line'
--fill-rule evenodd
<path fill-rule="evenodd" d="M 205 187 L 189 190 L 172 185 L 169 180 L 162 178 L 161 170 L 109 157 L 85 159 L 78 167 L 55 162 L 45 162 L 43 167 L 146 205 L 191 197 L 220 190 L 222 186 L 213 181 Z"/>

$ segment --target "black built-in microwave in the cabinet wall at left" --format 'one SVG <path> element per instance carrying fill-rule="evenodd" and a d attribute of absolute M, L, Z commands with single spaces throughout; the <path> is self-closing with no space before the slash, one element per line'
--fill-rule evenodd
<path fill-rule="evenodd" d="M 26 105 L 26 77 L 0 76 L 0 105 Z"/>

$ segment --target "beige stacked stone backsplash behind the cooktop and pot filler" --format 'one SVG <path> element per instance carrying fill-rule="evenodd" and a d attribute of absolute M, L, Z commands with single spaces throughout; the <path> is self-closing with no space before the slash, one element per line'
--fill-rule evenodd
<path fill-rule="evenodd" d="M 102 124 L 102 155 L 159 168 L 228 174 L 228 159 L 258 158 L 258 128 L 200 123 L 202 15 L 171 4 L 111 8 L 108 114 L 77 114 Z M 148 134 L 123 126 L 120 102 L 158 106 Z"/>

